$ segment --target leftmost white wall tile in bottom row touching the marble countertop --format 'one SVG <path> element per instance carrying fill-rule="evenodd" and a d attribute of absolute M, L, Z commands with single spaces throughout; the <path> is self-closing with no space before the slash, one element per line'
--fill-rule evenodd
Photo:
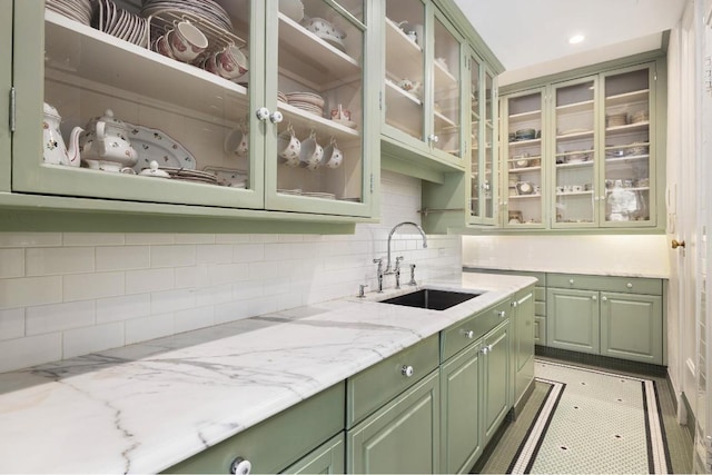
<path fill-rule="evenodd" d="M 62 335 L 59 333 L 0 342 L 0 373 L 55 362 L 61 357 Z"/>

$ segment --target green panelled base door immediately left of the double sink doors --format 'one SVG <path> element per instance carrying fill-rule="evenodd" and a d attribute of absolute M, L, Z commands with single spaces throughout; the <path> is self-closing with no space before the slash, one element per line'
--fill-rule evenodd
<path fill-rule="evenodd" d="M 439 370 L 346 433 L 347 473 L 439 471 Z"/>

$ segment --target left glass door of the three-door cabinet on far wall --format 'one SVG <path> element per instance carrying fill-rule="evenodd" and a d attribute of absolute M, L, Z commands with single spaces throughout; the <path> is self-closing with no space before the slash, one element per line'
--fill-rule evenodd
<path fill-rule="evenodd" d="M 502 140 L 506 181 L 506 188 L 502 191 L 506 204 L 506 215 L 503 217 L 505 227 L 542 227 L 544 222 L 543 101 L 543 90 L 526 91 L 503 101 L 506 109 L 502 113 L 506 118 L 507 133 L 506 139 L 503 137 Z"/>

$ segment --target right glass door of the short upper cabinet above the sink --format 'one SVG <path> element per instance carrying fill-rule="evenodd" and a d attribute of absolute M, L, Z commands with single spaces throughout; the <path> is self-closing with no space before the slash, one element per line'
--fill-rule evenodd
<path fill-rule="evenodd" d="M 462 157 L 461 43 L 436 12 L 434 20 L 433 60 L 433 133 L 431 146 Z"/>

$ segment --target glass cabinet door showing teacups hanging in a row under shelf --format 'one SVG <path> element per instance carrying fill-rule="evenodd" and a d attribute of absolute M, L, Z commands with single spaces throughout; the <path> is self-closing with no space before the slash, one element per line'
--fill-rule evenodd
<path fill-rule="evenodd" d="M 366 212 L 355 206 L 365 201 L 365 137 L 372 137 L 364 133 L 364 3 L 268 2 L 279 11 L 267 16 L 277 19 L 267 31 L 278 34 L 276 44 L 267 37 L 265 102 L 283 116 L 266 145 L 268 208 Z"/>

